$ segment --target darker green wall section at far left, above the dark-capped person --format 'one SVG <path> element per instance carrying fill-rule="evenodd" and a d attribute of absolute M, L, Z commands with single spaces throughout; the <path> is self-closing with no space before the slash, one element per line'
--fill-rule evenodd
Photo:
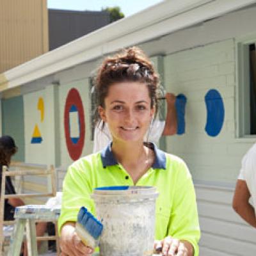
<path fill-rule="evenodd" d="M 10 135 L 14 138 L 19 150 L 13 160 L 24 161 L 24 106 L 23 97 L 3 99 L 2 102 L 2 131 L 3 135 Z"/>

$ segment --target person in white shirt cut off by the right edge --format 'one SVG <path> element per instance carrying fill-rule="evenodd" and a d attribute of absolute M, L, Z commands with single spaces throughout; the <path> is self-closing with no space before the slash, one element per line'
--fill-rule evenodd
<path fill-rule="evenodd" d="M 233 198 L 233 209 L 256 228 L 256 143 L 243 157 Z"/>

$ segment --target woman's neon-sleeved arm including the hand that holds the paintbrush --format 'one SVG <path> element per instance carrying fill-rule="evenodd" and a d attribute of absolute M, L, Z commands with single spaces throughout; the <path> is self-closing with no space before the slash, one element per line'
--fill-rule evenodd
<path fill-rule="evenodd" d="M 99 158 L 100 156 L 98 154 L 91 157 Z M 95 207 L 90 197 L 95 187 L 90 175 L 93 172 L 91 164 L 93 160 L 88 161 L 85 158 L 73 163 L 68 168 L 63 180 L 61 215 L 58 219 L 61 256 L 91 255 L 93 252 L 92 248 L 88 248 L 81 242 L 74 227 L 81 206 L 86 207 L 88 211 L 95 215 Z M 95 158 L 94 161 L 98 158 Z"/>

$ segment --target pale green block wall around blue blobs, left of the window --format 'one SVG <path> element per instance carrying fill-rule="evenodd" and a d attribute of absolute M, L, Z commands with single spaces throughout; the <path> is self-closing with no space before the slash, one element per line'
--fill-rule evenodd
<path fill-rule="evenodd" d="M 186 105 L 186 133 L 166 138 L 167 151 L 182 157 L 193 179 L 234 184 L 243 154 L 252 145 L 236 138 L 236 51 L 233 39 L 201 45 L 168 54 L 164 58 L 166 90 L 183 93 Z M 225 108 L 220 134 L 205 132 L 205 94 L 216 89 Z"/>

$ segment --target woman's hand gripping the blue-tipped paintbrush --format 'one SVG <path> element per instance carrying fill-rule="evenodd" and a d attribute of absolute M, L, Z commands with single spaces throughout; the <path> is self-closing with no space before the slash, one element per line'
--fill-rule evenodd
<path fill-rule="evenodd" d="M 60 248 L 61 256 L 90 256 L 94 252 L 77 236 L 74 222 L 67 222 L 61 228 Z"/>

